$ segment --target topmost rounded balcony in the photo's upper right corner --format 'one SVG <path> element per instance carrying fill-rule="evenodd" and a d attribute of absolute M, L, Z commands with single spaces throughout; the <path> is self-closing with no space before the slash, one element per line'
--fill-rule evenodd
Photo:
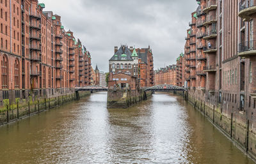
<path fill-rule="evenodd" d="M 239 13 L 238 16 L 241 17 L 241 19 L 244 19 L 245 21 L 250 21 L 250 19 L 253 16 L 253 14 L 256 13 L 256 1 L 245 1 L 242 0 L 239 3 Z"/>

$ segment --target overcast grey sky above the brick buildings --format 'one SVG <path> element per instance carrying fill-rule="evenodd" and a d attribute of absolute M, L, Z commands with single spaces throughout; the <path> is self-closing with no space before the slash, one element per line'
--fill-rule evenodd
<path fill-rule="evenodd" d="M 92 65 L 108 71 L 114 47 L 152 48 L 155 69 L 175 64 L 184 52 L 184 37 L 195 0 L 39 0 L 45 11 L 61 16 L 92 54 Z"/>

